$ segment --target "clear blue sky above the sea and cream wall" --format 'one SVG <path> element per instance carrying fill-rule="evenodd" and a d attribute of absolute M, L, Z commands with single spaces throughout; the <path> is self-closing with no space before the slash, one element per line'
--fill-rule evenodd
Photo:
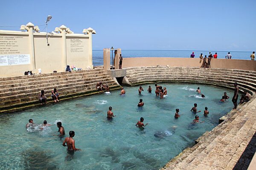
<path fill-rule="evenodd" d="M 93 49 L 256 51 L 256 0 L 1 0 L 0 26 L 47 15 L 49 32 L 95 29 Z"/>

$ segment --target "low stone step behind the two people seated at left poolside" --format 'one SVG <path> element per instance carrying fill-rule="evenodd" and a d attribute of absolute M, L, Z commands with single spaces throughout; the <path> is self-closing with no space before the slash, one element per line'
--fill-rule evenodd
<path fill-rule="evenodd" d="M 110 88 L 119 86 L 114 81 L 107 81 L 105 83 L 107 83 Z M 95 86 L 96 86 L 96 83 L 85 84 L 85 85 L 73 85 L 70 87 L 58 88 L 58 92 L 60 93 L 60 97 L 61 97 L 61 96 L 66 96 L 66 95 L 70 95 L 70 94 L 83 93 L 83 92 L 87 92 L 87 91 L 96 91 Z M 49 100 L 49 99 L 52 100 L 51 90 L 52 90 L 51 87 L 45 88 L 45 91 L 46 91 L 45 95 L 47 96 L 47 100 Z M 7 107 L 10 107 L 12 105 L 17 105 L 17 104 L 22 105 L 27 102 L 38 102 L 39 93 L 40 93 L 39 91 L 36 91 L 36 92 L 28 93 L 28 94 L 18 94 L 17 98 L 14 98 L 14 99 L 6 98 L 5 100 L 0 102 L 0 109 L 7 108 Z"/>

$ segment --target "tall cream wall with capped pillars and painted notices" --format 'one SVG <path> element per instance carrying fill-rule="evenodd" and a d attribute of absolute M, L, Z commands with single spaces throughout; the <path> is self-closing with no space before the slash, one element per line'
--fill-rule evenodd
<path fill-rule="evenodd" d="M 65 71 L 67 65 L 93 68 L 92 28 L 74 34 L 66 26 L 56 27 L 56 33 L 48 33 L 49 45 L 46 32 L 37 32 L 32 23 L 21 29 L 25 31 L 0 30 L 0 77 L 38 73 L 39 68 L 42 73 Z"/>

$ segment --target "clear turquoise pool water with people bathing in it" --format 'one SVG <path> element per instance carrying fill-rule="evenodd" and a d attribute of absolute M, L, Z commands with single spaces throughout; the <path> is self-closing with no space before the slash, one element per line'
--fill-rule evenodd
<path fill-rule="evenodd" d="M 154 87 L 154 84 L 150 84 Z M 0 169 L 45 170 L 153 170 L 163 167 L 170 159 L 192 146 L 195 139 L 218 125 L 218 119 L 233 108 L 231 99 L 221 103 L 224 91 L 232 98 L 231 89 L 209 85 L 160 83 L 168 90 L 164 99 L 148 94 L 148 85 L 138 95 L 139 86 L 125 87 L 120 91 L 98 94 L 30 110 L 0 115 Z M 195 92 L 200 87 L 205 99 Z M 143 99 L 143 108 L 137 107 Z M 195 114 L 190 111 L 194 103 L 198 110 L 209 109 L 209 116 L 197 113 L 201 121 L 192 125 Z M 108 107 L 116 115 L 113 121 L 106 119 Z M 181 117 L 174 119 L 175 109 Z M 140 117 L 148 123 L 144 130 L 135 127 Z M 64 138 L 56 125 L 44 130 L 29 132 L 28 119 L 42 124 L 44 120 L 56 124 L 61 121 L 66 131 L 74 130 L 77 151 L 73 156 L 63 147 Z"/>

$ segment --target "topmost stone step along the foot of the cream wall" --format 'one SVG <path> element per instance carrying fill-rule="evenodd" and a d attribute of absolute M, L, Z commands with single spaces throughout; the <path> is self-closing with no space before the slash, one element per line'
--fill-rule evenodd
<path fill-rule="evenodd" d="M 38 75 L 30 75 L 30 76 L 24 76 L 24 77 L 30 77 L 30 78 L 21 78 L 21 79 L 14 79 L 14 80 L 6 80 L 6 81 L 0 81 L 0 85 L 8 85 L 8 84 L 15 84 L 15 83 L 22 83 L 22 82 L 33 82 L 38 80 L 48 80 L 48 79 L 58 79 L 58 78 L 68 78 L 68 77 L 77 77 L 77 76 L 84 76 L 84 75 L 91 75 L 91 74 L 106 74 L 104 71 L 90 71 L 90 72 L 77 72 L 77 73 L 70 73 L 70 74 L 61 74 L 61 75 L 45 75 L 44 77 L 36 77 Z M 32 77 L 31 77 L 32 76 Z"/>

